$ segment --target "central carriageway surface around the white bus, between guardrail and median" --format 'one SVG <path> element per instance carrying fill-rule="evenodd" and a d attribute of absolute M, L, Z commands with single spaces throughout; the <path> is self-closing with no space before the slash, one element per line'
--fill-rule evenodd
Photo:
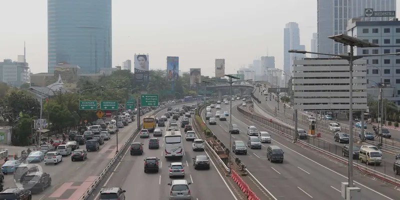
<path fill-rule="evenodd" d="M 181 105 L 179 107 L 181 107 Z M 164 112 L 165 111 L 161 111 L 157 117 L 163 115 Z M 182 116 L 180 116 L 180 118 L 181 117 Z M 168 126 L 169 120 L 165 127 L 160 128 L 164 131 Z M 180 128 L 180 131 L 184 135 L 183 128 Z M 150 133 L 150 138 L 152 137 L 151 135 L 152 133 Z M 183 141 L 183 158 L 178 160 L 166 160 L 164 157 L 163 137 L 158 138 L 160 139 L 159 149 L 148 149 L 148 138 L 135 137 L 134 141 L 140 141 L 144 144 L 143 155 L 130 155 L 129 150 L 124 152 L 120 164 L 117 165 L 114 172 L 109 176 L 109 179 L 106 180 L 102 187 L 121 187 L 126 190 L 126 199 L 167 199 L 169 195 L 169 185 L 167 185 L 167 183 L 171 180 L 168 176 L 168 165 L 172 161 L 180 161 L 185 165 L 184 179 L 193 182 L 190 185 L 191 199 L 238 199 L 234 196 L 224 180 L 224 178 L 230 177 L 224 177 L 217 170 L 212 159 L 210 159 L 211 168 L 209 170 L 194 170 L 192 158 L 195 155 L 206 154 L 205 151 L 194 152 L 191 148 L 191 141 Z M 160 159 L 160 170 L 158 173 L 144 173 L 143 160 L 147 156 L 157 156 Z M 97 198 L 95 197 L 94 199 Z"/>

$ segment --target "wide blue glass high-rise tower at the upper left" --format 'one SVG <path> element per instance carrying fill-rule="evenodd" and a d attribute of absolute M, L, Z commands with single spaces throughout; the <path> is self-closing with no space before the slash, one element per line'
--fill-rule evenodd
<path fill-rule="evenodd" d="M 111 68 L 111 0 L 47 0 L 48 72 L 58 63 L 83 73 Z"/>

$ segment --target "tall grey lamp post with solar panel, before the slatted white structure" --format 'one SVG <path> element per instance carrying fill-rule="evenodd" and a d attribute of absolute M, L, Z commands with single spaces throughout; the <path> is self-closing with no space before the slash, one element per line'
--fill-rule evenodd
<path fill-rule="evenodd" d="M 362 57 L 370 57 L 370 56 L 384 56 L 384 55 L 400 55 L 400 52 L 396 53 L 383 53 L 383 54 L 366 54 L 366 55 L 354 55 L 353 47 L 378 47 L 379 45 L 366 42 L 361 39 L 357 39 L 355 37 L 348 36 L 346 34 L 337 34 L 333 36 L 329 36 L 329 39 L 333 39 L 336 42 L 342 43 L 343 45 L 348 45 L 350 47 L 350 52 L 348 54 L 331 54 L 331 53 L 319 53 L 319 52 L 310 52 L 305 50 L 288 50 L 290 53 L 310 53 L 310 54 L 320 54 L 320 55 L 330 55 L 337 56 L 342 59 L 348 60 L 349 63 L 349 142 L 348 142 L 348 152 L 353 151 L 353 61 L 360 59 Z M 295 110 L 296 113 L 296 110 Z M 296 116 L 297 117 L 297 116 Z M 296 123 L 297 124 L 297 123 Z M 353 187 L 353 157 L 348 156 L 348 187 Z"/>

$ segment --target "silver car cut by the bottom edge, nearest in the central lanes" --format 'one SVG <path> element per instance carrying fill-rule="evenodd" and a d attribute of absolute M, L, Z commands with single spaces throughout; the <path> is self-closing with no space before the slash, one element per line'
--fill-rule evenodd
<path fill-rule="evenodd" d="M 172 180 L 168 183 L 170 186 L 169 200 L 190 200 L 191 195 L 189 193 L 189 185 L 191 182 L 187 182 L 185 179 Z"/>

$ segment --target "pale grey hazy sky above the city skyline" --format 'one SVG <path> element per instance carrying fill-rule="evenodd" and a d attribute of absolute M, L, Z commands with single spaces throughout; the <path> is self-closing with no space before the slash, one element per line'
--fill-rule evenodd
<path fill-rule="evenodd" d="M 16 60 L 26 41 L 31 71 L 47 72 L 47 0 L 0 0 L 0 7 L 0 58 Z M 112 65 L 148 53 L 150 69 L 166 68 L 166 56 L 179 56 L 180 70 L 213 76 L 215 58 L 235 73 L 268 52 L 283 69 L 287 22 L 299 24 L 309 50 L 316 0 L 112 0 Z"/>

